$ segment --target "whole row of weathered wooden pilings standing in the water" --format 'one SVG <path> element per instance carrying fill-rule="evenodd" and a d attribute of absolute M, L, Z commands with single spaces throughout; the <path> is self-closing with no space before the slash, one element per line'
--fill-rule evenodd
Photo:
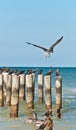
<path fill-rule="evenodd" d="M 46 109 L 52 109 L 52 77 L 50 75 L 38 75 L 38 102 L 45 99 Z M 62 108 L 62 77 L 56 76 L 56 111 L 57 117 L 61 117 Z M 18 117 L 19 100 L 25 100 L 28 109 L 34 109 L 35 74 L 0 74 L 0 107 L 4 104 L 10 106 L 10 117 Z"/>

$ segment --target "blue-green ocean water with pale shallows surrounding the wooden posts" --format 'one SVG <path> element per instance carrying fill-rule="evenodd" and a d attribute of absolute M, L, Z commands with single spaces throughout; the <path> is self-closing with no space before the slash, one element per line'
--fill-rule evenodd
<path fill-rule="evenodd" d="M 27 70 L 29 67 L 11 67 L 12 69 Z M 35 69 L 36 67 L 33 67 Z M 43 74 L 50 69 L 49 67 L 38 67 L 42 69 Z M 61 119 L 56 118 L 55 105 L 55 72 L 60 70 L 62 76 L 62 116 Z M 39 119 L 43 119 L 41 114 L 45 111 L 45 103 L 38 104 L 37 101 L 37 74 L 35 80 L 35 110 Z M 53 105 L 53 130 L 76 130 L 76 68 L 53 68 L 52 74 L 52 105 Z M 0 130 L 35 130 L 35 125 L 25 124 L 25 118 L 32 115 L 27 112 L 25 101 L 19 102 L 19 117 L 10 119 L 10 107 L 6 105 L 0 108 Z"/>

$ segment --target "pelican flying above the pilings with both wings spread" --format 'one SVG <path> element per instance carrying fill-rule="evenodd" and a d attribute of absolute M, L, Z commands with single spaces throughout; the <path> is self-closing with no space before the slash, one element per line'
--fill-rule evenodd
<path fill-rule="evenodd" d="M 54 47 L 55 47 L 62 39 L 63 39 L 63 36 L 62 36 L 61 38 L 59 38 L 53 45 L 51 45 L 49 49 L 47 49 L 47 48 L 45 48 L 45 47 L 42 47 L 42 46 L 38 46 L 38 45 L 36 45 L 36 44 L 32 44 L 32 43 L 30 43 L 30 42 L 26 42 L 26 43 L 29 44 L 29 45 L 33 45 L 33 46 L 35 46 L 35 47 L 38 47 L 38 48 L 42 49 L 42 50 L 45 52 L 45 56 L 46 56 L 46 57 L 47 57 L 47 56 L 50 57 L 50 53 L 53 53 Z"/>

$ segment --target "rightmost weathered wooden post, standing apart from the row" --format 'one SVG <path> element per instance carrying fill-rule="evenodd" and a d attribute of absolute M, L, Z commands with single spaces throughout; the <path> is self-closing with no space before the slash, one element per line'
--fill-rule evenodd
<path fill-rule="evenodd" d="M 55 86 L 56 86 L 56 111 L 57 111 L 57 118 L 60 118 L 61 117 L 60 110 L 62 108 L 62 77 L 59 74 L 56 75 Z"/>

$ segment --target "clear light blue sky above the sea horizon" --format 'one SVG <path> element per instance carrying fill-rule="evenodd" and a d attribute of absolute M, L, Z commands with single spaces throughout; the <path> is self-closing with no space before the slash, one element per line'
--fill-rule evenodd
<path fill-rule="evenodd" d="M 76 66 L 76 0 L 1 0 L 0 66 Z M 49 48 L 58 38 L 54 54 Z"/>

